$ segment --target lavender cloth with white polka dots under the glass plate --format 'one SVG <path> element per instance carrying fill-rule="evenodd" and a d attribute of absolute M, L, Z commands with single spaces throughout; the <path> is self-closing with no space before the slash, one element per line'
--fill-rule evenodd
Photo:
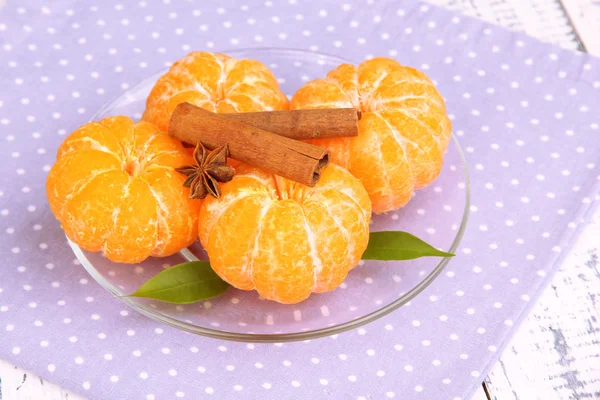
<path fill-rule="evenodd" d="M 598 200 L 600 62 L 429 5 L 32 0 L 0 9 L 0 45 L 0 357 L 90 398 L 467 399 Z M 471 169 L 468 232 L 442 275 L 307 342 L 224 342 L 137 315 L 74 260 L 44 196 L 64 135 L 121 91 L 191 50 L 264 46 L 422 69 Z M 440 193 L 439 212 L 452 206 Z"/>

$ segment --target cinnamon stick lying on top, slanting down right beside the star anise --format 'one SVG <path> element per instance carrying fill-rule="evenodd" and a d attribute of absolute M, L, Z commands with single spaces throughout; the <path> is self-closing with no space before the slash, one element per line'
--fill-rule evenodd
<path fill-rule="evenodd" d="M 169 136 L 209 149 L 229 145 L 231 158 L 314 186 L 329 162 L 327 149 L 275 135 L 189 103 L 175 107 Z"/>

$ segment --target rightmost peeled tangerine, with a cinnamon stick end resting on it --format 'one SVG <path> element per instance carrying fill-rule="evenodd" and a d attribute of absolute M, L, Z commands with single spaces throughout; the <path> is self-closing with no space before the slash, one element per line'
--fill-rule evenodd
<path fill-rule="evenodd" d="M 395 210 L 439 174 L 451 135 L 444 99 L 431 80 L 389 58 L 342 64 L 300 88 L 291 108 L 354 107 L 359 134 L 315 139 L 365 185 L 376 213 Z"/>

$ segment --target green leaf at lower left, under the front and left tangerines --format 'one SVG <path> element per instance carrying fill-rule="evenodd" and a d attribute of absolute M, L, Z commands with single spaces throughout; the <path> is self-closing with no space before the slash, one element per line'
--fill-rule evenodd
<path fill-rule="evenodd" d="M 191 261 L 159 272 L 129 296 L 189 304 L 217 297 L 228 287 L 207 261 Z"/>

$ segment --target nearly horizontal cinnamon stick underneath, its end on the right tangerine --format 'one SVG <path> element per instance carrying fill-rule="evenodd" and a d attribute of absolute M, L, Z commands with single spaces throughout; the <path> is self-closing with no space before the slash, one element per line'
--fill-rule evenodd
<path fill-rule="evenodd" d="M 263 111 L 223 115 L 296 140 L 358 136 L 358 120 L 361 117 L 360 110 L 354 108 Z"/>

